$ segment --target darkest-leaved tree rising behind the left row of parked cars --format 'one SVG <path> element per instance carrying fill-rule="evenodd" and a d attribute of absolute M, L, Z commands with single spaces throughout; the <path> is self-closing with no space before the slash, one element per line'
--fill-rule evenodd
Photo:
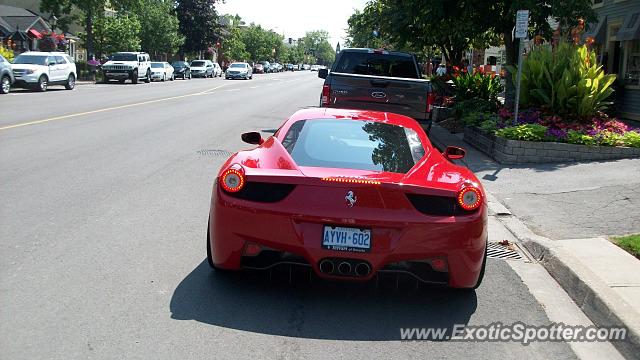
<path fill-rule="evenodd" d="M 208 49 L 219 40 L 220 24 L 215 3 L 218 0 L 178 0 L 176 14 L 185 40 L 184 52 Z"/>

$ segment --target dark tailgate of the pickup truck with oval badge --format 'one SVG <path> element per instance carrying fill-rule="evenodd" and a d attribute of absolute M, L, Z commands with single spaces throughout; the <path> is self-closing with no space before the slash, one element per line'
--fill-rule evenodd
<path fill-rule="evenodd" d="M 387 111 L 427 120 L 428 80 L 337 72 L 330 77 L 330 107 Z"/>

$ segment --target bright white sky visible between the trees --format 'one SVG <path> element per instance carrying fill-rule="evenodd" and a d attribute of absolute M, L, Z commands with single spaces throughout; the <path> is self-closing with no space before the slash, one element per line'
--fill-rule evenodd
<path fill-rule="evenodd" d="M 262 25 L 285 39 L 301 38 L 311 30 L 326 30 L 332 47 L 338 42 L 344 47 L 347 19 L 366 3 L 367 0 L 226 0 L 216 3 L 216 10 L 219 14 L 238 14 L 247 24 Z"/>

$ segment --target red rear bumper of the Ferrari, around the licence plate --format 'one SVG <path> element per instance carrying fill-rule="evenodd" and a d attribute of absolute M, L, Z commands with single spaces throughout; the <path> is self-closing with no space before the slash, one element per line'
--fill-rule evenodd
<path fill-rule="evenodd" d="M 295 192 L 295 190 L 294 190 Z M 296 198 L 292 193 L 290 197 Z M 452 287 L 473 287 L 479 277 L 487 242 L 486 206 L 471 215 L 434 217 L 413 211 L 404 221 L 370 220 L 334 217 L 291 209 L 284 204 L 258 204 L 238 200 L 214 188 L 210 212 L 210 245 L 213 261 L 224 269 L 269 268 L 290 262 L 310 266 L 317 276 L 328 279 L 370 280 L 376 274 L 404 272 L 425 283 Z M 282 211 L 282 209 L 290 209 Z M 247 226 L 250 224 L 250 226 Z M 322 247 L 325 225 L 369 228 L 372 232 L 370 252 L 347 252 Z M 272 261 L 259 256 L 243 256 L 247 244 L 263 248 Z M 275 259 L 275 260 L 274 260 Z M 446 259 L 446 270 L 435 271 L 429 265 L 433 259 Z M 365 276 L 344 276 L 321 271 L 320 264 L 330 260 L 335 265 L 343 261 L 353 266 L 366 263 L 370 271 Z M 426 264 L 426 265 L 425 265 Z M 432 276 L 433 275 L 433 276 Z"/>

